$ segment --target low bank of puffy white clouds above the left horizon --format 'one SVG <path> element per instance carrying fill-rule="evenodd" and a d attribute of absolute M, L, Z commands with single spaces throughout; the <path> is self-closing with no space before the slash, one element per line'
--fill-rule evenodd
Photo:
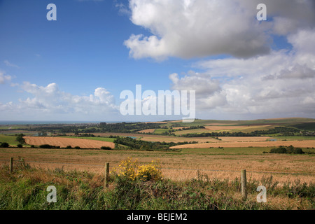
<path fill-rule="evenodd" d="M 50 83 L 47 86 L 40 86 L 29 82 L 20 85 L 22 90 L 29 93 L 31 97 L 20 99 L 18 104 L 9 102 L 1 104 L 0 110 L 9 113 L 24 111 L 29 116 L 41 114 L 41 116 L 57 116 L 66 114 L 67 117 L 75 115 L 85 116 L 84 118 L 97 118 L 109 114 L 117 113 L 115 99 L 111 92 L 103 87 L 98 87 L 93 94 L 89 96 L 73 95 L 69 92 L 59 90 L 56 83 Z"/>

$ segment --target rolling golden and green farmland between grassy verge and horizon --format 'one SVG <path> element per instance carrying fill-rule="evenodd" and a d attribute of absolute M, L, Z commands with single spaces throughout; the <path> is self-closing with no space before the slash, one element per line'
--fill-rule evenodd
<path fill-rule="evenodd" d="M 109 162 L 111 171 L 113 171 L 122 160 L 127 158 L 137 159 L 139 165 L 155 161 L 160 165 L 163 179 L 166 181 L 163 183 L 165 186 L 170 184 L 167 181 L 176 181 L 176 185 L 185 186 L 185 184 L 190 184 L 187 181 L 194 179 L 204 181 L 206 179 L 203 179 L 202 176 L 206 176 L 207 180 L 218 181 L 217 184 L 224 183 L 226 186 L 221 189 L 221 192 L 228 194 L 230 200 L 237 203 L 233 206 L 241 208 L 244 205 L 239 201 L 240 193 L 237 190 L 239 188 L 235 188 L 235 192 L 228 190 L 234 189 L 233 186 L 239 183 L 237 179 L 240 177 L 241 169 L 246 169 L 248 184 L 256 184 L 255 181 L 258 181 L 257 184 L 267 184 L 264 180 L 273 180 L 276 182 L 277 188 L 271 187 L 271 183 L 268 182 L 269 188 L 272 189 L 287 189 L 290 184 L 301 187 L 301 189 L 313 188 L 315 183 L 315 137 L 310 130 L 314 124 L 314 120 L 306 118 L 286 118 L 252 121 L 196 120 L 195 123 L 185 124 L 186 126 L 179 121 L 125 123 L 117 126 L 111 124 L 109 127 L 95 124 L 34 125 L 24 129 L 20 125 L 18 129 L 3 128 L 0 130 L 0 142 L 7 141 L 10 144 L 9 148 L 0 148 L 0 164 L 2 167 L 6 167 L 8 158 L 14 158 L 15 161 L 23 158 L 34 169 L 34 175 L 37 175 L 37 177 L 31 176 L 30 178 L 36 178 L 36 180 L 48 180 L 50 175 L 61 175 L 60 173 L 52 174 L 52 170 L 69 172 L 69 175 L 74 175 L 71 173 L 73 170 L 88 172 L 94 176 L 88 184 L 102 186 L 102 181 L 99 179 L 102 179 L 106 162 Z M 281 128 L 275 129 L 276 127 Z M 307 127 L 307 130 L 297 127 Z M 183 130 L 184 128 L 185 130 Z M 185 135 L 202 132 L 221 134 L 218 137 Z M 237 132 L 241 132 L 245 136 L 237 137 L 234 136 L 235 134 L 229 134 Z M 269 132 L 272 134 L 266 134 Z M 15 141 L 15 134 L 19 133 L 25 134 L 26 144 L 23 145 L 23 148 L 16 147 L 18 142 Z M 120 144 L 116 142 L 120 142 Z M 126 143 L 132 144 L 124 145 Z M 40 148 L 39 146 L 43 144 L 60 148 Z M 34 146 L 31 148 L 31 145 Z M 66 148 L 66 146 L 71 146 L 71 148 Z M 75 149 L 75 146 L 79 146 L 80 149 Z M 108 146 L 111 150 L 101 150 L 102 146 Z M 157 148 L 154 148 L 155 146 Z M 272 148 L 278 146 L 301 148 L 304 154 L 268 153 Z M 162 150 L 158 150 L 158 147 L 162 147 Z M 63 174 L 68 175 L 68 173 Z M 80 176 L 81 174 L 76 173 L 75 175 Z M 84 176 L 85 173 L 82 175 Z M 59 182 L 56 184 L 63 183 L 62 178 L 64 177 L 59 176 Z M 66 179 L 68 180 L 68 177 Z M 120 182 L 118 181 L 118 183 Z M 111 189 L 115 191 L 118 183 L 113 181 Z M 6 184 L 6 181 L 1 184 Z M 207 182 L 207 184 L 210 183 Z M 302 184 L 306 184 L 306 186 L 302 188 L 304 186 Z M 66 186 L 70 186 L 68 182 L 66 182 Z M 194 186 L 192 188 L 195 189 L 195 182 L 191 182 L 191 186 Z M 78 186 L 73 186 L 73 189 L 76 188 Z M 211 188 L 215 188 L 215 186 L 211 186 Z M 204 192 L 206 195 L 208 193 Z M 181 195 L 185 195 L 185 193 L 181 193 Z M 254 196 L 255 190 L 250 197 L 254 198 Z M 288 198 L 286 193 L 270 196 L 268 206 L 271 207 L 269 209 L 283 209 L 283 206 L 286 209 L 314 207 L 314 196 L 307 196 L 308 199 L 303 199 L 305 203 L 303 205 L 299 204 L 300 202 L 297 203 L 298 197 Z M 126 208 L 124 206 L 122 204 L 118 208 Z M 199 208 L 195 207 L 196 205 L 191 206 L 191 208 Z M 232 208 L 227 206 L 225 204 L 221 208 Z M 100 207 L 102 206 L 100 205 Z M 130 209 L 130 207 L 127 208 Z M 165 207 L 158 208 L 165 209 Z M 266 207 L 257 207 L 257 209 L 266 209 Z"/>

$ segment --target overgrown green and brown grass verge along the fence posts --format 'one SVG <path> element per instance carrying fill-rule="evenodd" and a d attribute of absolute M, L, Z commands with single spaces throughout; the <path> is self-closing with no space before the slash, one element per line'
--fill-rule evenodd
<path fill-rule="evenodd" d="M 267 203 L 255 200 L 256 188 L 267 188 Z M 57 202 L 48 203 L 48 186 L 57 188 Z M 315 184 L 286 183 L 272 178 L 249 179 L 248 200 L 241 199 L 239 179 L 211 179 L 197 172 L 194 179 L 128 179 L 112 173 L 109 188 L 104 176 L 64 169 L 34 169 L 23 160 L 0 169 L 0 209 L 314 209 Z"/>

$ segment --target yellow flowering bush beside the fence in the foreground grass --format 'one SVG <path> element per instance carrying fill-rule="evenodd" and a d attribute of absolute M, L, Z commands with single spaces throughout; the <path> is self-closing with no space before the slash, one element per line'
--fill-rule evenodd
<path fill-rule="evenodd" d="M 114 168 L 118 176 L 124 176 L 131 181 L 139 179 L 141 181 L 159 181 L 162 180 L 162 171 L 157 162 L 139 166 L 138 160 L 127 158 L 120 162 L 118 167 Z"/>

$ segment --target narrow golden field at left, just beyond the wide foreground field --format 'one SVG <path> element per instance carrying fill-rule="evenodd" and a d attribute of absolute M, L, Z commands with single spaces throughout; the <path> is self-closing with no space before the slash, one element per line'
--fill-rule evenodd
<path fill-rule="evenodd" d="M 115 144 L 113 144 L 112 142 L 90 139 L 71 139 L 62 137 L 24 137 L 24 139 L 27 144 L 34 146 L 49 144 L 50 146 L 79 146 L 80 148 L 101 148 L 102 146 L 109 146 L 111 148 L 115 147 Z"/>

